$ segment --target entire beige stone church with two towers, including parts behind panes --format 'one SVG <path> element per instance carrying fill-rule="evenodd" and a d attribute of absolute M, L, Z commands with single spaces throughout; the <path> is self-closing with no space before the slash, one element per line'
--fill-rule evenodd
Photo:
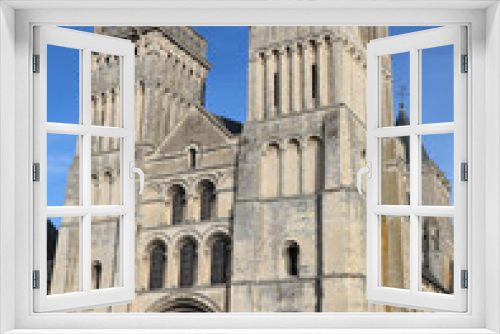
<path fill-rule="evenodd" d="M 368 303 L 366 44 L 387 27 L 250 27 L 244 124 L 204 108 L 207 41 L 189 27 L 96 27 L 136 44 L 136 298 L 96 312 L 404 311 Z M 93 55 L 94 124 L 119 124 L 118 59 Z M 393 120 L 390 60 L 383 119 Z M 230 92 L 228 92 L 230 94 Z M 382 201 L 407 204 L 408 143 L 382 143 Z M 435 205 L 450 185 L 424 154 Z M 119 203 L 119 142 L 92 147 L 93 205 Z M 78 153 L 66 204 L 77 201 Z M 390 203 L 389 203 L 390 202 Z M 382 282 L 409 285 L 409 222 L 382 217 Z M 92 217 L 94 289 L 119 284 L 118 217 Z M 423 286 L 452 293 L 452 223 L 422 222 Z M 51 294 L 78 289 L 78 221 L 63 218 Z M 426 269 L 427 268 L 427 269 Z M 425 277 L 424 277 L 425 276 Z"/>

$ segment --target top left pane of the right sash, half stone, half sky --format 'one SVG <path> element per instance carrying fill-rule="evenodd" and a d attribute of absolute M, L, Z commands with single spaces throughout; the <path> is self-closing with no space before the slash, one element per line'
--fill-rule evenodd
<path fill-rule="evenodd" d="M 380 57 L 380 126 L 410 124 L 410 53 Z"/>

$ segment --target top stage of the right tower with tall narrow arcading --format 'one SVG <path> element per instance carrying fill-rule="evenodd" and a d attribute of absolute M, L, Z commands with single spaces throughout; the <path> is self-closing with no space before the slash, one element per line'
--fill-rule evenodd
<path fill-rule="evenodd" d="M 385 36 L 387 27 L 250 27 L 248 120 L 364 102 L 352 66 Z"/>

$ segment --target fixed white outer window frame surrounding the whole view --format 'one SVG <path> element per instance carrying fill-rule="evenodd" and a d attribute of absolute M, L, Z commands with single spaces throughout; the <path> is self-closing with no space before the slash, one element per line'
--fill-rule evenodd
<path fill-rule="evenodd" d="M 16 2 L 0 4 L 0 325 L 2 331 L 40 329 L 127 329 L 162 332 L 346 332 L 356 333 L 492 333 L 500 331 L 500 11 L 492 1 L 305 1 L 305 2 Z M 16 7 L 14 10 L 12 7 Z M 122 6 L 123 8 L 120 8 Z M 63 8 L 65 7 L 65 8 Z M 103 7 L 113 10 L 102 10 Z M 128 9 L 127 9 L 128 7 Z M 137 8 L 150 8 L 137 10 Z M 24 8 L 24 9 L 22 9 Z M 44 10 L 52 9 L 52 10 Z M 58 9 L 58 10 L 54 10 Z M 207 12 L 210 15 L 207 15 Z M 34 314 L 32 313 L 31 221 L 32 94 L 31 33 L 35 24 L 54 25 L 451 25 L 469 31 L 468 142 L 470 158 L 468 244 L 470 270 L 467 313 L 438 314 Z M 488 28 L 488 29 L 486 29 Z M 15 38 L 14 38 L 15 31 Z M 15 66 L 15 71 L 14 71 Z M 488 71 L 486 71 L 488 66 Z M 15 85 L 12 85 L 14 82 Z M 15 113 L 12 112 L 15 110 Z M 14 117 L 15 114 L 15 117 Z M 9 129 L 9 126 L 14 130 Z M 10 137 L 9 137 L 10 136 Z M 15 145 L 12 146 L 12 136 Z M 486 139 L 488 148 L 486 153 Z M 15 171 L 15 177 L 12 173 Z M 487 173 L 488 172 L 488 173 Z M 486 174 L 488 178 L 486 179 Z M 488 182 L 486 182 L 486 180 Z M 9 199 L 15 193 L 15 201 Z M 488 196 L 486 196 L 486 194 Z M 473 195 L 473 196 L 471 196 Z M 486 204 L 486 205 L 485 205 Z M 13 206 L 14 210 L 10 207 Z M 488 218 L 488 219 L 486 219 Z M 12 224 L 12 221 L 15 224 Z M 12 238 L 15 235 L 15 238 Z M 12 255 L 14 254 L 14 256 Z M 486 254 L 488 256 L 486 257 Z M 486 266 L 486 262 L 488 266 Z M 15 286 L 15 289 L 12 287 Z M 488 293 L 486 293 L 486 289 Z M 15 305 L 12 308 L 12 305 Z M 132 330 L 141 324 L 141 330 Z M 222 330 L 221 330 L 222 328 Z M 225 330 L 223 329 L 225 328 Z M 240 328 L 241 330 L 235 330 Z M 295 330 L 279 330 L 294 328 Z M 25 330 L 23 330 L 25 329 Z M 71 329 L 75 329 L 74 331 Z M 246 330 L 244 330 L 246 329 Z M 252 330 L 249 330 L 252 329 Z M 397 330 L 396 330 L 397 329 Z M 433 330 L 434 329 L 434 330 Z M 436 330 L 439 329 L 439 330 Z M 108 331 L 109 330 L 109 331 Z M 492 331 L 490 331 L 492 330 Z M 124 331 L 118 331 L 124 332 Z"/>

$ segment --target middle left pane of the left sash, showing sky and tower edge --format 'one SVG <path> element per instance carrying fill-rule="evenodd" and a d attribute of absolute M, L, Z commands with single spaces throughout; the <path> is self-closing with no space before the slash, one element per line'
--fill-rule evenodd
<path fill-rule="evenodd" d="M 80 205 L 79 136 L 47 134 L 47 206 Z"/>

